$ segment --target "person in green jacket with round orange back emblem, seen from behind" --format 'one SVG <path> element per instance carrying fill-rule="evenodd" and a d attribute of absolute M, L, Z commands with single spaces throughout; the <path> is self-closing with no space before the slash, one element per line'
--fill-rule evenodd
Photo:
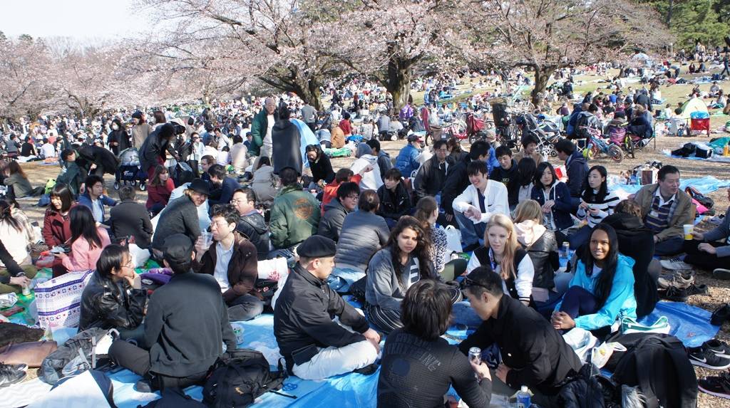
<path fill-rule="evenodd" d="M 299 243 L 317 233 L 320 209 L 315 197 L 302 190 L 296 170 L 283 168 L 279 177 L 283 189 L 274 199 L 269 224 L 270 239 L 275 248 L 272 256 L 291 258 Z"/>

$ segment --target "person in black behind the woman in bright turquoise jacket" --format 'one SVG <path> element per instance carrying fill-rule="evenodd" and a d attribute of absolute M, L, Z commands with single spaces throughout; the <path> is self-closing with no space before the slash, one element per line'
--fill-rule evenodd
<path fill-rule="evenodd" d="M 602 221 L 616 230 L 618 251 L 634 259 L 634 296 L 637 299 L 637 316 L 648 315 L 659 301 L 656 282 L 661 272 L 654 256 L 653 231 L 644 227 L 641 206 L 634 200 L 623 200 L 614 213 Z M 579 249 L 580 251 L 580 249 Z"/>

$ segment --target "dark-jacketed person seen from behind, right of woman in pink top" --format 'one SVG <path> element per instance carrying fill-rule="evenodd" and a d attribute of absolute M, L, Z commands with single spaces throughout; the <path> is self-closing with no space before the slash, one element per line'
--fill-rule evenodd
<path fill-rule="evenodd" d="M 132 236 L 139 248 L 148 248 L 152 244 L 154 229 L 150 213 L 147 212 L 145 205 L 134 201 L 135 195 L 134 187 L 122 186 L 119 189 L 120 203 L 109 211 L 108 222 L 115 238 Z"/>

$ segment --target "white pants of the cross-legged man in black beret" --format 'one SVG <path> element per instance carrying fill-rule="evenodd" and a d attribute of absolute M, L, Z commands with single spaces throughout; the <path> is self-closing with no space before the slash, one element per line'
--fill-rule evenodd
<path fill-rule="evenodd" d="M 302 380 L 322 380 L 369 366 L 376 359 L 377 351 L 373 345 L 363 340 L 340 348 L 320 348 L 310 361 L 295 365 L 292 371 Z"/>

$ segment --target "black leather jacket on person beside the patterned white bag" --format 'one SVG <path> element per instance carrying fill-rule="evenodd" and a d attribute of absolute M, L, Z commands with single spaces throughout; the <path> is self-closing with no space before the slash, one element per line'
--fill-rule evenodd
<path fill-rule="evenodd" d="M 93 272 L 81 294 L 79 331 L 101 329 L 135 329 L 142 323 L 147 306 L 147 291 L 132 289 L 126 280 L 114 282 Z"/>

